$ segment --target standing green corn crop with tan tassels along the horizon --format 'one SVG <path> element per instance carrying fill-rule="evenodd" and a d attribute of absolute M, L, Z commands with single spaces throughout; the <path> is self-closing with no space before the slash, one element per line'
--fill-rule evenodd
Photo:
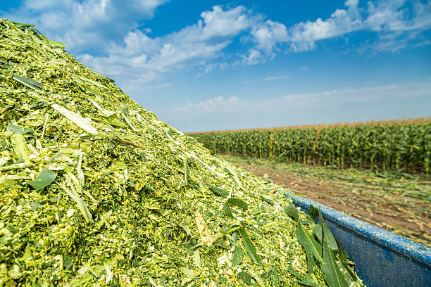
<path fill-rule="evenodd" d="M 431 122 L 192 134 L 215 153 L 430 173 Z"/>

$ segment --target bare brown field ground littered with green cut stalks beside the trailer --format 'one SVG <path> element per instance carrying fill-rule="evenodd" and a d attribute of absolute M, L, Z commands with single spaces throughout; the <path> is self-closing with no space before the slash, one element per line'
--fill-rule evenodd
<path fill-rule="evenodd" d="M 275 184 L 431 247 L 431 178 L 222 155 Z"/>

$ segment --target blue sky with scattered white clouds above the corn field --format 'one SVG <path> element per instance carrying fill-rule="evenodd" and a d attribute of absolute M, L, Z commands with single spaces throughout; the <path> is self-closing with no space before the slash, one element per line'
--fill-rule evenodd
<path fill-rule="evenodd" d="M 184 132 L 431 116 L 431 2 L 1 1 Z"/>

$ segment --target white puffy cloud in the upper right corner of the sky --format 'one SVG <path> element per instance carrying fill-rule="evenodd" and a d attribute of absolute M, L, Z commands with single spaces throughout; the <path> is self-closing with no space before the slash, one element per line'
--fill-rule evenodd
<path fill-rule="evenodd" d="M 406 0 L 368 1 L 364 9 L 358 8 L 358 0 L 348 0 L 345 6 L 346 9 L 337 9 L 326 20 L 318 18 L 290 27 L 291 51 L 310 51 L 316 49 L 319 40 L 364 30 L 377 32 L 378 40 L 362 51 L 396 52 L 418 39 L 420 32 L 431 28 L 430 1 L 425 4 L 421 1 L 407 4 Z"/>

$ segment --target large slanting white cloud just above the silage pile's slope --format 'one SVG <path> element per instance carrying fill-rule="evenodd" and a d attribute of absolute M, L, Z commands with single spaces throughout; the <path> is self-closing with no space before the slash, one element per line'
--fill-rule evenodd
<path fill-rule="evenodd" d="M 219 65 L 211 60 L 219 58 L 223 49 L 237 35 L 250 30 L 258 19 L 244 6 L 226 10 L 213 6 L 213 10 L 201 13 L 201 18 L 195 25 L 162 37 L 151 38 L 145 32 L 133 30 L 128 32 L 123 45 L 111 45 L 108 56 L 77 57 L 99 72 L 116 75 L 120 85 L 133 91 L 131 87 L 154 81 L 167 72 L 201 67 L 203 72 L 198 74 L 201 76 L 216 68 L 225 69 L 229 63 Z M 257 54 L 260 51 L 251 53 L 249 64 L 261 60 Z M 131 74 L 134 83 L 128 77 Z"/>

